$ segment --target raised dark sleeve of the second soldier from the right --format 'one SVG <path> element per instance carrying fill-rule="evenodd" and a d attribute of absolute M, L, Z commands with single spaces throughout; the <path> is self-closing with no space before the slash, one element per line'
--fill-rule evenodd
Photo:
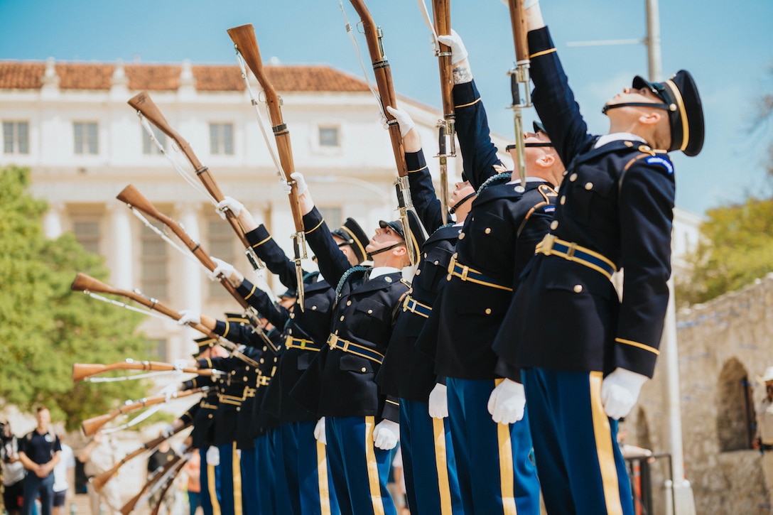
<path fill-rule="evenodd" d="M 461 160 L 467 179 L 477 190 L 486 179 L 504 172 L 505 168 L 496 156 L 496 147 L 491 142 L 489 119 L 486 117 L 475 81 L 456 84 L 452 92 Z"/>

